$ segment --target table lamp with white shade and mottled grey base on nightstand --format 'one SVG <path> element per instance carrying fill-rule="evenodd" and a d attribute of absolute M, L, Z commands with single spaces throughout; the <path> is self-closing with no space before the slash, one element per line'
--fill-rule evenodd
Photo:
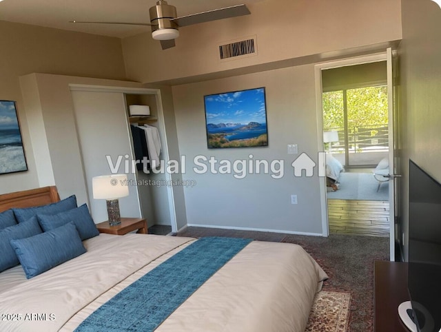
<path fill-rule="evenodd" d="M 112 174 L 94 176 L 92 178 L 92 191 L 95 199 L 105 199 L 107 203 L 107 215 L 109 225 L 121 225 L 118 198 L 129 196 L 127 175 Z"/>

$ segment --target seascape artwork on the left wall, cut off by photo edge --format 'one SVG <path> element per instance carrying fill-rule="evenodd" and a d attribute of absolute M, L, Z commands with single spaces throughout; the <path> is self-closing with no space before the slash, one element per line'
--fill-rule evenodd
<path fill-rule="evenodd" d="M 0 174 L 27 171 L 14 101 L 0 101 Z"/>

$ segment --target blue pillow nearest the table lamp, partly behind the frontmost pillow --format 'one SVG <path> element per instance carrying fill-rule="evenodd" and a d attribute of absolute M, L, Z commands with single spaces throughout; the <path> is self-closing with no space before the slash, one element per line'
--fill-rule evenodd
<path fill-rule="evenodd" d="M 88 205 L 85 204 L 59 214 L 37 214 L 37 218 L 43 231 L 50 231 L 73 221 L 81 240 L 87 240 L 99 235 L 94 220 L 90 216 Z"/>

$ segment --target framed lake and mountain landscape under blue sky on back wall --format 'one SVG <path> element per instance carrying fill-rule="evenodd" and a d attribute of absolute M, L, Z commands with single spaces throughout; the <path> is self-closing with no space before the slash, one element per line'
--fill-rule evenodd
<path fill-rule="evenodd" d="M 265 87 L 204 96 L 207 145 L 268 145 Z"/>

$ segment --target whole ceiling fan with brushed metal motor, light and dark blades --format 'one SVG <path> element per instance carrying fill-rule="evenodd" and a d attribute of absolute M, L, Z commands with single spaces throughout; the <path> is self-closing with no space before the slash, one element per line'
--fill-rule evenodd
<path fill-rule="evenodd" d="M 218 19 L 228 19 L 250 14 L 247 6 L 244 4 L 209 10 L 207 12 L 198 12 L 183 17 L 177 17 L 176 7 L 167 4 L 165 0 L 158 0 L 156 6 L 149 10 L 150 23 L 128 23 L 128 22 L 88 22 L 88 21 L 70 21 L 70 23 L 101 23 L 101 24 L 129 24 L 129 25 L 150 25 L 152 27 L 152 37 L 161 41 L 163 50 L 173 48 L 174 39 L 179 37 L 179 30 L 186 25 L 216 21 Z"/>

